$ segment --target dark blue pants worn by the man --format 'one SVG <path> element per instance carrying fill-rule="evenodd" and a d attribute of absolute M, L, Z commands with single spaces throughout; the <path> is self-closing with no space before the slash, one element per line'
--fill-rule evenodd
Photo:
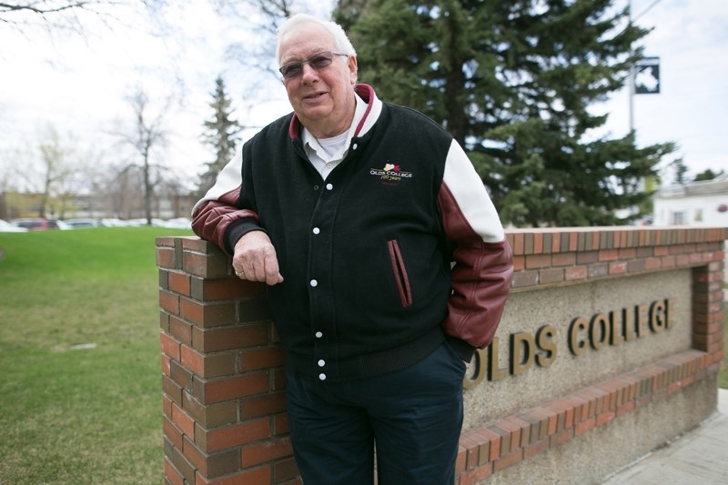
<path fill-rule="evenodd" d="M 447 343 L 407 369 L 319 382 L 288 371 L 288 421 L 305 485 L 451 485 L 465 364 Z"/>

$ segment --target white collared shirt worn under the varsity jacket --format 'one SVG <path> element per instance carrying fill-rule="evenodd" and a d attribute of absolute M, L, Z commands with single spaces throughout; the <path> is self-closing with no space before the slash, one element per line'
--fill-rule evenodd
<path fill-rule="evenodd" d="M 349 145 L 351 138 L 354 137 L 354 130 L 359 126 L 359 122 L 367 110 L 367 104 L 364 100 L 356 93 L 354 96 L 357 100 L 357 106 L 348 131 L 331 138 L 317 138 L 311 135 L 308 129 L 303 128 L 301 138 L 306 155 L 308 155 L 311 165 L 319 171 L 324 180 L 329 177 L 331 170 L 338 166 L 349 153 Z"/>

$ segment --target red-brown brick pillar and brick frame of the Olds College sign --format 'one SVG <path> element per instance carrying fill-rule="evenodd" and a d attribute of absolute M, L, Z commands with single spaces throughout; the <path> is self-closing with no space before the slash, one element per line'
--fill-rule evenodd
<path fill-rule="evenodd" d="M 478 483 L 612 419 L 714 376 L 723 362 L 723 228 L 508 231 L 513 291 L 693 273 L 693 349 L 464 433 L 459 485 Z M 197 237 L 157 239 L 168 484 L 296 484 L 283 355 L 262 285 Z M 635 457 L 637 458 L 637 457 Z"/>

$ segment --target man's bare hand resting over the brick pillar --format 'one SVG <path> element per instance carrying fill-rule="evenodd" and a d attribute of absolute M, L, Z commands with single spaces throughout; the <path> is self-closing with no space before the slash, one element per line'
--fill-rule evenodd
<path fill-rule="evenodd" d="M 233 269 L 240 279 L 265 281 L 268 285 L 283 282 L 276 248 L 263 231 L 251 231 L 240 237 L 234 249 Z"/>

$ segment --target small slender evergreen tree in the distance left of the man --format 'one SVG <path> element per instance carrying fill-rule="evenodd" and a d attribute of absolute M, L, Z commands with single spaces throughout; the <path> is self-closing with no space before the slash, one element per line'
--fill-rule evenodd
<path fill-rule="evenodd" d="M 210 93 L 212 102 L 209 106 L 213 109 L 212 119 L 205 121 L 205 131 L 202 135 L 203 141 L 215 150 L 215 159 L 205 164 L 205 172 L 200 176 L 198 195 L 202 197 L 209 187 L 215 184 L 217 174 L 227 165 L 238 148 L 240 141 L 240 126 L 237 120 L 232 119 L 231 100 L 227 96 L 225 81 L 221 76 L 215 80 L 215 91 Z"/>

